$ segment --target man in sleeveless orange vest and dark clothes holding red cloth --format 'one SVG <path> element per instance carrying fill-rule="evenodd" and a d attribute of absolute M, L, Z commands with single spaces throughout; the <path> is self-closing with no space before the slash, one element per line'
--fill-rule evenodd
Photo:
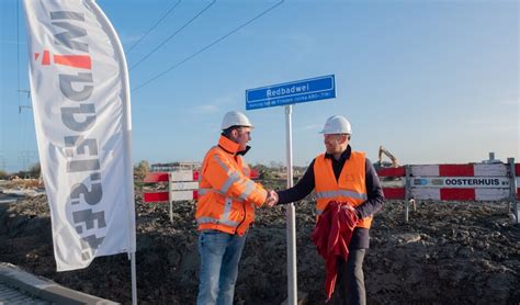
<path fill-rule="evenodd" d="M 374 167 L 364 152 L 354 151 L 349 143 L 350 122 L 330 116 L 321 131 L 326 152 L 317 156 L 302 179 L 291 189 L 270 191 L 268 205 L 296 202 L 316 192 L 316 215 L 319 217 L 329 202 L 347 203 L 359 221 L 348 245 L 347 261 L 338 259 L 338 280 L 331 304 L 365 304 L 363 260 L 369 248 L 372 216 L 384 203 L 383 189 Z"/>

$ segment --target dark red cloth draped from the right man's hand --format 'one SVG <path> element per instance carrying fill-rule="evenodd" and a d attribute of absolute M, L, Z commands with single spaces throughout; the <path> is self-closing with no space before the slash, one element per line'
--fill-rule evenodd
<path fill-rule="evenodd" d="M 358 222 L 358 216 L 353 211 L 341 207 L 347 204 L 337 201 L 329 202 L 319 216 L 312 236 L 318 253 L 326 262 L 325 293 L 327 300 L 332 295 L 336 285 L 338 257 L 347 260 L 349 256 L 348 246 Z"/>

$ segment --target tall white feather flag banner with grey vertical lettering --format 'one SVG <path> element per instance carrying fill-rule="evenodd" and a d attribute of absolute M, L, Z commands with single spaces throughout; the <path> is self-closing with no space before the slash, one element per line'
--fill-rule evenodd
<path fill-rule="evenodd" d="M 128 72 L 93 0 L 24 0 L 31 95 L 58 271 L 135 252 Z"/>

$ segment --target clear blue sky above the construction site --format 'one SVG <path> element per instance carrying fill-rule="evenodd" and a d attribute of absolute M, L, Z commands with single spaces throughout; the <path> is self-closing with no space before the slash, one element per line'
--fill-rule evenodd
<path fill-rule="evenodd" d="M 380 145 L 402 165 L 479 162 L 489 151 L 520 161 L 519 1 L 98 4 L 131 68 L 134 163 L 202 161 L 230 110 L 255 125 L 249 163 L 285 163 L 284 106 L 246 111 L 245 91 L 327 75 L 335 99 L 292 106 L 296 166 L 325 151 L 318 132 L 331 115 L 351 122 L 352 148 L 372 161 Z M 9 172 L 38 161 L 22 10 L 0 0 L 0 170 Z"/>

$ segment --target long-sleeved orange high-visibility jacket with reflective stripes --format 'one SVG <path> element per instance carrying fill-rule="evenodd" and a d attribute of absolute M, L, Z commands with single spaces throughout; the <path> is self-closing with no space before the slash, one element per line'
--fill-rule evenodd
<path fill-rule="evenodd" d="M 249 178 L 249 166 L 237 155 L 239 145 L 221 136 L 201 168 L 195 218 L 199 230 L 244 235 L 255 221 L 255 208 L 268 192 Z"/>

